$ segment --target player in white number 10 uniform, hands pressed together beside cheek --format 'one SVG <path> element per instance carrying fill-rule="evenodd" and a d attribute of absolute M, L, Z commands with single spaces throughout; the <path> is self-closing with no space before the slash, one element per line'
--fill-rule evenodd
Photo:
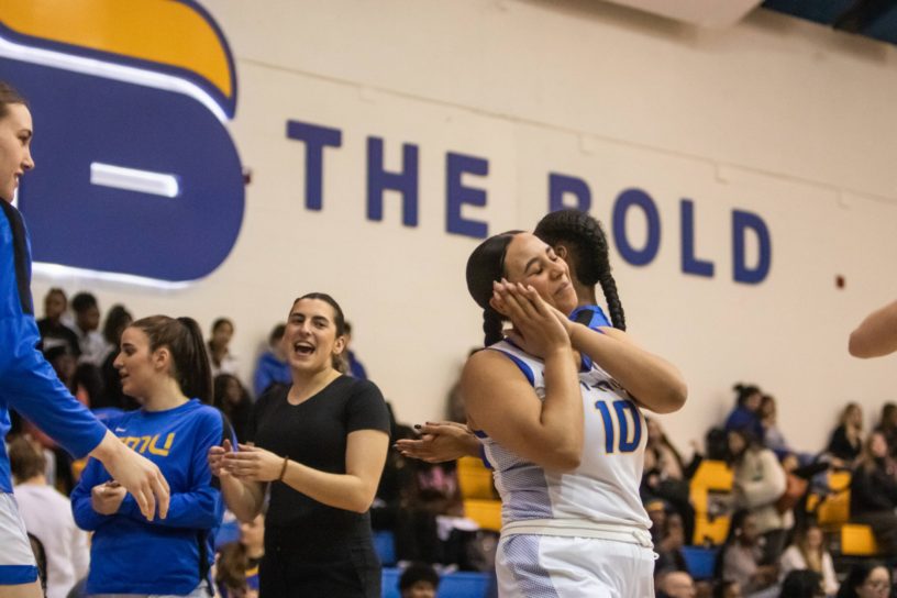
<path fill-rule="evenodd" d="M 467 362 L 462 391 L 502 499 L 500 596 L 653 596 L 639 405 L 678 409 L 682 377 L 621 331 L 568 321 L 569 270 L 529 233 L 477 247 L 467 286 L 491 348 Z"/>

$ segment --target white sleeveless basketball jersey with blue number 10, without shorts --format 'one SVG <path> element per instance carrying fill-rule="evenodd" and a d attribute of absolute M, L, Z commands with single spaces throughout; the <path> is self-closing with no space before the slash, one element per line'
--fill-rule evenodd
<path fill-rule="evenodd" d="M 540 400 L 545 398 L 544 363 L 507 341 L 488 348 L 510 357 Z M 503 523 L 527 519 L 585 519 L 649 529 L 639 497 L 645 420 L 627 391 L 599 366 L 579 373 L 585 409 L 585 444 L 579 467 L 560 473 L 523 461 L 477 432 L 494 467 Z"/>

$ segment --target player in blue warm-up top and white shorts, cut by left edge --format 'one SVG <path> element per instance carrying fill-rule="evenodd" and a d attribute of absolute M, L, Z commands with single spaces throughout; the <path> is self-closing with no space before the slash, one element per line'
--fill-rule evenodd
<path fill-rule="evenodd" d="M 9 409 L 35 423 L 76 457 L 90 454 L 130 492 L 143 517 L 168 512 L 168 485 L 158 467 L 125 447 L 56 377 L 35 345 L 41 340 L 31 299 L 31 246 L 12 206 L 19 179 L 34 168 L 33 125 L 25 99 L 0 81 L 0 439 Z M 9 458 L 0 442 L 0 596 L 42 596 L 37 566 L 12 496 Z"/>

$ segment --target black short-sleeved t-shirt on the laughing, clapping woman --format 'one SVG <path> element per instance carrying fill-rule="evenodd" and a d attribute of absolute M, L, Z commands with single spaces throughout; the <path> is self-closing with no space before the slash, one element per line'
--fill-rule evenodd
<path fill-rule="evenodd" d="M 255 403 L 247 438 L 256 446 L 321 472 L 345 474 L 346 438 L 357 430 L 389 433 L 386 401 L 373 383 L 340 376 L 299 405 L 288 387 L 275 387 Z M 370 533 L 367 513 L 328 507 L 280 481 L 270 485 L 266 524 L 358 536 Z"/>

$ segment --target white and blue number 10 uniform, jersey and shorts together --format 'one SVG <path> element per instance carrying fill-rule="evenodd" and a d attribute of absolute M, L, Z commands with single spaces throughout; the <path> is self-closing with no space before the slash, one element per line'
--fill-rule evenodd
<path fill-rule="evenodd" d="M 508 341 L 489 348 L 511 358 L 544 400 L 543 362 Z M 639 498 L 644 417 L 595 364 L 579 373 L 579 385 L 585 449 L 572 472 L 544 469 L 477 432 L 501 495 L 502 598 L 654 596 L 651 520 Z"/>

